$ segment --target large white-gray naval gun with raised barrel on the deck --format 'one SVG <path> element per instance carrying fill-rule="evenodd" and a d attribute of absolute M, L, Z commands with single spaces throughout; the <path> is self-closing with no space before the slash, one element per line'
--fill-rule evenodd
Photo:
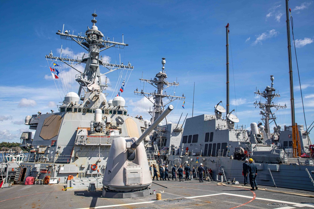
<path fill-rule="evenodd" d="M 152 178 L 143 139 L 173 110 L 169 107 L 139 137 L 118 137 L 112 140 L 107 160 L 102 197 L 142 197 L 151 193 Z"/>

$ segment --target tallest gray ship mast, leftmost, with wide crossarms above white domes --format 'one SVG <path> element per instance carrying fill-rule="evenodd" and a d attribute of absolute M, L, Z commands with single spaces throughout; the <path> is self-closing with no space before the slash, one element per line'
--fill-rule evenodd
<path fill-rule="evenodd" d="M 103 57 L 100 55 L 100 52 L 111 47 L 124 48 L 124 46 L 128 46 L 128 44 L 123 43 L 123 41 L 122 43 L 110 41 L 109 37 L 105 37 L 104 34 L 102 34 L 95 25 L 95 23 L 97 23 L 97 20 L 95 19 L 97 14 L 93 13 L 92 16 L 94 17 L 91 20 L 93 26 L 91 29 L 88 27 L 88 30 L 85 33 L 74 35 L 70 34 L 70 31 L 68 30 L 65 30 L 64 32 L 63 30 L 62 32 L 61 30 L 58 30 L 56 33 L 57 35 L 60 35 L 61 39 L 75 41 L 77 44 L 82 46 L 87 51 L 87 53 L 84 53 L 82 57 L 77 57 L 76 59 L 71 59 L 68 57 L 56 57 L 53 56 L 52 53 L 46 55 L 46 60 L 63 62 L 64 64 L 79 72 L 79 74 L 75 76 L 75 80 L 80 85 L 78 95 L 81 95 L 82 90 L 84 91 L 81 95 L 81 100 L 84 100 L 84 95 L 86 92 L 102 92 L 103 90 L 106 90 L 107 84 L 102 84 L 101 76 L 118 69 L 133 70 L 133 66 L 131 66 L 130 63 L 128 65 L 123 65 L 123 63 L 117 65 L 111 64 L 107 62 L 107 60 L 103 59 Z M 80 72 L 74 67 L 75 65 L 81 63 L 86 63 L 84 72 Z M 105 68 L 107 68 L 109 72 L 101 74 L 99 69 L 100 65 L 103 65 Z"/>

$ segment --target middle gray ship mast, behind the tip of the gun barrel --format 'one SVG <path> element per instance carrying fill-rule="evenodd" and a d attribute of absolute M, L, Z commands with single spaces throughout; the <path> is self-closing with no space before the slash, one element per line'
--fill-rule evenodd
<path fill-rule="evenodd" d="M 164 89 L 170 87 L 170 86 L 179 86 L 179 83 L 177 83 L 176 81 L 174 81 L 173 83 L 168 82 L 166 80 L 167 78 L 167 74 L 165 71 L 165 64 L 166 64 L 166 60 L 165 58 L 162 58 L 161 61 L 162 64 L 162 71 L 160 71 L 159 73 L 156 74 L 154 79 L 142 79 L 140 78 L 139 80 L 147 82 L 149 84 L 151 84 L 152 86 L 154 86 L 157 91 L 153 91 L 153 92 L 143 92 L 143 90 L 138 91 L 138 89 L 136 89 L 136 91 L 134 91 L 135 95 L 143 95 L 146 98 L 154 98 L 154 102 L 152 102 L 150 99 L 149 101 L 151 101 L 154 104 L 154 109 L 152 112 L 149 112 L 152 116 L 151 118 L 151 123 L 154 123 L 154 121 L 161 115 L 161 113 L 164 112 L 164 107 L 169 104 L 170 102 L 179 99 L 179 100 L 184 100 L 184 94 L 182 95 L 182 97 L 178 97 L 175 95 L 168 95 L 168 93 L 166 91 L 164 91 Z M 163 98 L 166 97 L 170 100 L 170 102 L 164 104 L 163 102 Z"/>

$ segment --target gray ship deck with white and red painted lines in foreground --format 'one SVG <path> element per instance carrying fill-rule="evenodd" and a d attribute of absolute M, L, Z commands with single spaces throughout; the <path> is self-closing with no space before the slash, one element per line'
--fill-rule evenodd
<path fill-rule="evenodd" d="M 216 181 L 179 182 L 153 181 L 152 191 L 161 192 L 145 197 L 110 199 L 101 197 L 102 191 L 62 191 L 64 185 L 14 185 L 0 190 L 1 208 L 314 208 L 314 192 L 260 186 L 217 185 Z M 166 188 L 167 187 L 167 188 Z M 308 196 L 275 193 L 264 189 L 302 193 Z M 311 197 L 310 197 L 311 196 Z"/>

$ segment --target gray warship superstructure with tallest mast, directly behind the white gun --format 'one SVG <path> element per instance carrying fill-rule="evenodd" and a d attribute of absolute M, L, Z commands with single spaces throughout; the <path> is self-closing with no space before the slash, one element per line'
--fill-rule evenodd
<path fill-rule="evenodd" d="M 34 138 L 31 138 L 31 132 L 21 136 L 21 147 L 29 150 L 30 155 L 19 165 L 16 183 L 24 183 L 28 176 L 35 177 L 35 181 L 46 178 L 50 184 L 66 183 L 68 176 L 73 176 L 70 187 L 86 188 L 89 183 L 95 183 L 101 188 L 112 140 L 138 138 L 148 128 L 142 120 L 128 116 L 126 102 L 120 95 L 127 85 L 123 78 L 119 80 L 122 87 L 117 90 L 117 96 L 107 101 L 107 73 L 132 71 L 133 66 L 130 63 L 112 64 L 100 55 L 104 50 L 121 49 L 128 44 L 110 41 L 96 26 L 97 14 L 92 16 L 93 25 L 84 33 L 74 35 L 63 29 L 56 33 L 61 39 L 74 41 L 86 50 L 76 59 L 53 56 L 52 52 L 46 55 L 49 64 L 68 65 L 78 71 L 75 75 L 78 93 L 67 93 L 57 106 L 59 112 L 38 112 L 25 118 L 25 124 L 36 131 Z M 75 68 L 78 64 L 85 64 L 83 72 Z M 108 72 L 101 73 L 100 68 Z M 57 68 L 50 69 L 57 71 Z"/>

